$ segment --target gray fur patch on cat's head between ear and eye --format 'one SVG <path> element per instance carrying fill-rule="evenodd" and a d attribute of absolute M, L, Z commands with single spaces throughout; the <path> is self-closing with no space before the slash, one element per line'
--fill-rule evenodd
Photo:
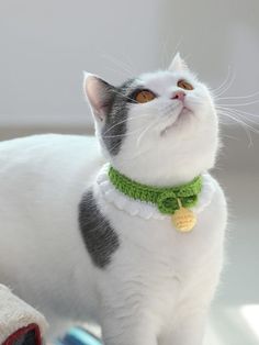
<path fill-rule="evenodd" d="M 102 140 L 113 156 L 119 154 L 127 131 L 128 105 L 133 102 L 130 98 L 133 82 L 133 79 L 127 80 L 121 87 L 112 87 L 111 90 L 113 98 L 102 130 Z"/>

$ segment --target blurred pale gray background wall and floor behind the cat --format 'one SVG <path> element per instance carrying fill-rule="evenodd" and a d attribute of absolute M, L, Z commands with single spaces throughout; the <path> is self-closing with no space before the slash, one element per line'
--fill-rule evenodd
<path fill-rule="evenodd" d="M 230 219 L 205 344 L 259 344 L 259 1 L 0 0 L 0 140 L 93 133 L 83 70 L 120 84 L 180 51 L 215 90 Z"/>

